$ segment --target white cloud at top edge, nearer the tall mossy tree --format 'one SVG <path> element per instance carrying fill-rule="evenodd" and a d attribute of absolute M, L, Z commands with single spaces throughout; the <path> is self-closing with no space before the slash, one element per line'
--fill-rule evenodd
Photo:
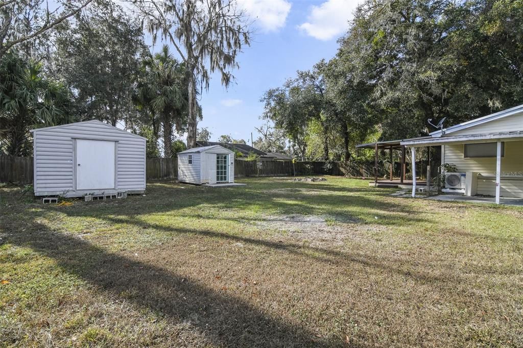
<path fill-rule="evenodd" d="M 291 10 L 291 3 L 287 0 L 238 0 L 238 6 L 256 20 L 255 25 L 264 32 L 283 28 Z"/>

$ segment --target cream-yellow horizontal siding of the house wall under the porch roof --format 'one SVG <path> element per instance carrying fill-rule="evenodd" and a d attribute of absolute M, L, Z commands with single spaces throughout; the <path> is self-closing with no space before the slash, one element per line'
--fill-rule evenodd
<path fill-rule="evenodd" d="M 478 172 L 477 194 L 494 195 L 496 158 L 464 158 L 464 145 L 445 145 L 445 163 L 456 165 L 459 172 Z M 523 141 L 505 142 L 501 159 L 501 195 L 523 198 Z"/>

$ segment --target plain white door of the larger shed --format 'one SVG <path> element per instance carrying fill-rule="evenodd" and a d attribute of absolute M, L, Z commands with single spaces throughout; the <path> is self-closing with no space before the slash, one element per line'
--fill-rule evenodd
<path fill-rule="evenodd" d="M 76 140 L 76 189 L 114 189 L 115 155 L 115 142 Z"/>

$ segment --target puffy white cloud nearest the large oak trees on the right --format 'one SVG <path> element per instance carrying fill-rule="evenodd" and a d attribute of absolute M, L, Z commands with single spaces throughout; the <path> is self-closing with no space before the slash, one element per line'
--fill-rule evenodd
<path fill-rule="evenodd" d="M 307 21 L 298 28 L 318 40 L 337 38 L 349 28 L 349 20 L 358 0 L 327 0 L 320 6 L 311 6 Z"/>

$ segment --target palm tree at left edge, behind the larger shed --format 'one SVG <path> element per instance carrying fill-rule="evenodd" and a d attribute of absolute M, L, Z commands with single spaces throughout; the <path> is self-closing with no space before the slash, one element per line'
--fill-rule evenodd
<path fill-rule="evenodd" d="M 72 122 L 67 88 L 44 76 L 41 63 L 15 52 L 0 59 L 0 148 L 9 155 L 32 152 L 29 130 Z"/>

